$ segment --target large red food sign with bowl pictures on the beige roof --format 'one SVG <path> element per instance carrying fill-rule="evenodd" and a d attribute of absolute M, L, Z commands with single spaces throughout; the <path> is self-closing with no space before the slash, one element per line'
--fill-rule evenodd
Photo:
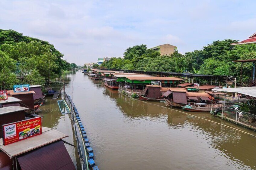
<path fill-rule="evenodd" d="M 3 144 L 8 145 L 42 134 L 41 117 L 2 125 Z"/>

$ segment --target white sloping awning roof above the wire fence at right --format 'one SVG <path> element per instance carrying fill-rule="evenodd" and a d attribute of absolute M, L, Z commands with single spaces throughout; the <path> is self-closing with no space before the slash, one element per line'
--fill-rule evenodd
<path fill-rule="evenodd" d="M 256 97 L 256 87 L 219 88 L 219 89 L 212 89 L 212 90 L 240 93 L 240 94 L 245 94 L 247 96 Z"/>

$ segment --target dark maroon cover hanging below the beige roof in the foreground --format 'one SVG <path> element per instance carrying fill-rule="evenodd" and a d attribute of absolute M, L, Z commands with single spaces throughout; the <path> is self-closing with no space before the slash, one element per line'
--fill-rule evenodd
<path fill-rule="evenodd" d="M 21 169 L 75 169 L 62 140 L 17 156 Z"/>

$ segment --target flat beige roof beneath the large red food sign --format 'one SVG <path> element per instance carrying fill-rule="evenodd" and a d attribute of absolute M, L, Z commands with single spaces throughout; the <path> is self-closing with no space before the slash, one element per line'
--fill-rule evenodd
<path fill-rule="evenodd" d="M 42 127 L 42 134 L 33 138 L 28 138 L 26 140 L 15 142 L 9 145 L 3 145 L 3 141 L 0 140 L 0 150 L 5 152 L 10 158 L 13 158 L 14 156 L 21 155 L 30 150 L 34 150 L 55 141 L 59 141 L 60 139 L 66 137 L 68 137 L 66 134 L 63 134 L 59 131 Z"/>

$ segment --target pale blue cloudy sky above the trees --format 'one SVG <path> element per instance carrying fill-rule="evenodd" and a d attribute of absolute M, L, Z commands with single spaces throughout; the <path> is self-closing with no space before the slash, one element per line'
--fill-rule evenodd
<path fill-rule="evenodd" d="M 1 0 L 0 29 L 53 44 L 69 63 L 122 57 L 134 45 L 184 54 L 256 32 L 254 0 Z"/>

